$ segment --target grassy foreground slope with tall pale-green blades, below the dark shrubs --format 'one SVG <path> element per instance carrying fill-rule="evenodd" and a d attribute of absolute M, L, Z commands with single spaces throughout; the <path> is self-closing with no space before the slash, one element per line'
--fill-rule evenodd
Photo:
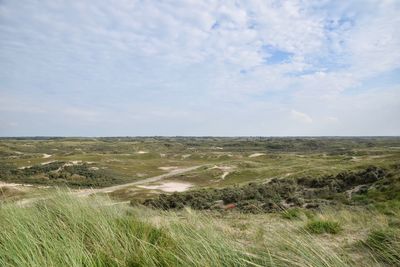
<path fill-rule="evenodd" d="M 398 211 L 395 216 L 363 209 L 300 211 L 288 220 L 282 214 L 161 212 L 110 204 L 58 193 L 31 206 L 1 205 L 0 265 L 400 264 L 399 229 L 391 223 Z M 340 231 L 312 234 L 310 222 L 318 220 L 336 222 Z"/>

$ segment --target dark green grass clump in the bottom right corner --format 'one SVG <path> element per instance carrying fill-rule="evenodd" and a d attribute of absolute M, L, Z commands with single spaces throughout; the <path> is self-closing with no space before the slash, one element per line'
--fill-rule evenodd
<path fill-rule="evenodd" d="M 391 228 L 374 230 L 363 242 L 378 260 L 400 266 L 400 232 Z"/>

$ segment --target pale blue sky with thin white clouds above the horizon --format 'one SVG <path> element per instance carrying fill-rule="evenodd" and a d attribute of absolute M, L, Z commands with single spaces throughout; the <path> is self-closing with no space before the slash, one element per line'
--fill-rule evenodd
<path fill-rule="evenodd" d="M 400 1 L 0 0 L 0 136 L 400 135 Z"/>

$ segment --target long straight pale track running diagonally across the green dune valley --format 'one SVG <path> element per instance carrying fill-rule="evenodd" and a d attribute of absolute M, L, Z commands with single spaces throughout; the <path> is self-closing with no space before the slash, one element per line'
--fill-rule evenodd
<path fill-rule="evenodd" d="M 131 182 L 131 183 L 127 183 L 127 184 L 121 184 L 121 185 L 114 185 L 114 186 L 110 186 L 110 187 L 104 187 L 104 188 L 99 188 L 99 189 L 84 189 L 78 192 L 75 192 L 74 194 L 77 196 L 89 196 L 91 194 L 94 193 L 110 193 L 119 189 L 123 189 L 125 187 L 129 187 L 129 186 L 133 186 L 133 185 L 141 185 L 141 184 L 147 184 L 147 183 L 153 183 L 153 182 L 157 182 L 159 180 L 162 180 L 164 178 L 168 178 L 174 175 L 178 175 L 178 174 L 183 174 L 186 172 L 190 172 L 193 171 L 195 169 L 198 169 L 200 167 L 202 167 L 203 165 L 199 165 L 199 166 L 193 166 L 193 167 L 188 167 L 188 168 L 182 168 L 182 169 L 175 169 L 170 171 L 169 173 L 165 173 L 165 174 L 161 174 L 158 176 L 154 176 L 154 177 L 150 177 L 150 178 L 146 178 L 143 180 L 139 180 L 136 182 Z"/>

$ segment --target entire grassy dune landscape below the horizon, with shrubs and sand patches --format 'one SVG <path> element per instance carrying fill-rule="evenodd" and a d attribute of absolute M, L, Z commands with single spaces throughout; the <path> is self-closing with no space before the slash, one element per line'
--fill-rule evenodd
<path fill-rule="evenodd" d="M 400 138 L 3 138 L 0 229 L 0 266 L 399 266 Z"/>

